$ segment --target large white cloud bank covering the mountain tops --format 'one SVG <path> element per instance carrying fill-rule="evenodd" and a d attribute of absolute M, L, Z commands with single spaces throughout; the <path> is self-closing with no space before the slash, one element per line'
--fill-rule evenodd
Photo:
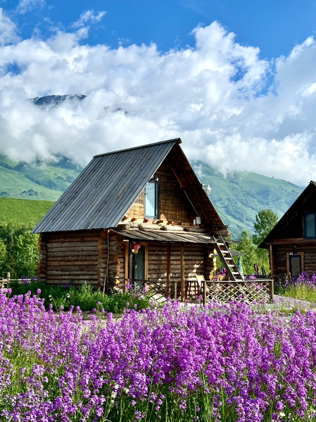
<path fill-rule="evenodd" d="M 88 12 L 76 30 L 103 16 Z M 193 36 L 194 48 L 166 53 L 155 44 L 81 45 L 80 33 L 61 31 L 0 47 L 0 152 L 29 161 L 60 153 L 84 165 L 94 154 L 179 136 L 191 160 L 224 174 L 316 179 L 313 38 L 269 62 L 218 22 Z M 12 64 L 19 73 L 6 70 Z M 27 100 L 79 92 L 88 97 L 57 108 Z"/>

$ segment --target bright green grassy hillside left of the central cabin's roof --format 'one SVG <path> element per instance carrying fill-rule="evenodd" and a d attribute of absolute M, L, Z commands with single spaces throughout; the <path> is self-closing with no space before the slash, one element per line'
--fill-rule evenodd
<path fill-rule="evenodd" d="M 35 225 L 53 205 L 52 201 L 0 197 L 0 224 L 15 220 L 19 224 Z"/>

